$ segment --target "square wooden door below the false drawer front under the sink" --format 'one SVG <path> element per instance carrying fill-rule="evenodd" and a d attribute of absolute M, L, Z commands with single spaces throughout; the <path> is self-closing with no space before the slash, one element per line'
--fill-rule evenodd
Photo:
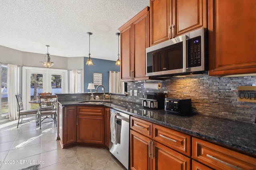
<path fill-rule="evenodd" d="M 104 116 L 77 115 L 78 143 L 104 145 Z"/>

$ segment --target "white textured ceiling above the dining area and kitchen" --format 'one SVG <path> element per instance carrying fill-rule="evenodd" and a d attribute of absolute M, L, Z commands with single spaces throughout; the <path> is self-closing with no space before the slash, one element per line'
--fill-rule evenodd
<path fill-rule="evenodd" d="M 150 0 L 0 0 L 0 45 L 63 57 L 115 61 L 118 28 Z"/>

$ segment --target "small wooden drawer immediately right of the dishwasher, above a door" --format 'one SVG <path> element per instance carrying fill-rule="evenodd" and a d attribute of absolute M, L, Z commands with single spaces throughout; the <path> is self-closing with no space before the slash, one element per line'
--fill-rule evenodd
<path fill-rule="evenodd" d="M 141 133 L 147 137 L 152 138 L 152 123 L 138 119 L 136 117 L 131 117 L 130 128 L 134 131 Z"/>

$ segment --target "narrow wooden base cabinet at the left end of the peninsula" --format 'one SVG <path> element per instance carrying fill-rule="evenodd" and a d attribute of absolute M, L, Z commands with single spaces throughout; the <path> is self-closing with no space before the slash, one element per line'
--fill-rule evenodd
<path fill-rule="evenodd" d="M 76 106 L 58 105 L 58 137 L 62 148 L 76 143 Z"/>

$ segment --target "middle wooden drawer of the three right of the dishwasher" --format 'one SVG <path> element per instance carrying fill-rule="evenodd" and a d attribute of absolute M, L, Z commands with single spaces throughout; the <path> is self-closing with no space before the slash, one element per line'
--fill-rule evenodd
<path fill-rule="evenodd" d="M 153 124 L 153 140 L 187 156 L 191 155 L 191 137 L 189 135 Z"/>

